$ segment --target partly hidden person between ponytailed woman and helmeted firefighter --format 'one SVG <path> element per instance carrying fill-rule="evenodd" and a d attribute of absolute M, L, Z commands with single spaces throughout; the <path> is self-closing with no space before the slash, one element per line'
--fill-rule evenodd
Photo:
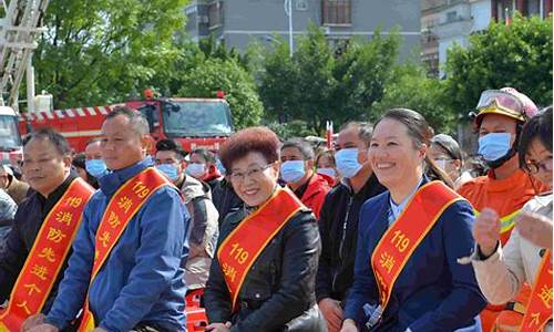
<path fill-rule="evenodd" d="M 452 136 L 447 134 L 434 135 L 431 138 L 429 156 L 437 166 L 447 173 L 454 183 L 454 188 L 459 188 L 473 178 L 469 172 L 463 172 L 462 149 Z"/>

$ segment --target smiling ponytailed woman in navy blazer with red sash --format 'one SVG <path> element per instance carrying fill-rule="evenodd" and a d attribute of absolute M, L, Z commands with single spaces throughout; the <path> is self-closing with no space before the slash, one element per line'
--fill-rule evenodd
<path fill-rule="evenodd" d="M 458 258 L 474 247 L 470 204 L 428 156 L 432 131 L 411 110 L 376 124 L 369 160 L 388 191 L 362 206 L 342 331 L 481 331 L 485 307 Z"/>

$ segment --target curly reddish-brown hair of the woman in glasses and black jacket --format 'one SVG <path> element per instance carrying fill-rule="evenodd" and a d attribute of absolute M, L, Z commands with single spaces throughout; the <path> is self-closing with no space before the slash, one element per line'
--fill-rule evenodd
<path fill-rule="evenodd" d="M 219 157 L 228 175 L 233 163 L 249 153 L 259 153 L 268 164 L 279 159 L 279 137 L 268 127 L 249 127 L 233 134 L 219 151 Z"/>

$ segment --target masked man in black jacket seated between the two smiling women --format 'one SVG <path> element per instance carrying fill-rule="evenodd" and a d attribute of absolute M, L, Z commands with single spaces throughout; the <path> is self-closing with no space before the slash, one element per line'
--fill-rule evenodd
<path fill-rule="evenodd" d="M 327 194 L 319 216 L 322 250 L 316 298 L 329 332 L 340 330 L 341 302 L 353 281 L 359 210 L 367 199 L 384 190 L 367 158 L 371 134 L 372 127 L 365 123 L 341 128 L 335 158 L 342 181 Z"/>

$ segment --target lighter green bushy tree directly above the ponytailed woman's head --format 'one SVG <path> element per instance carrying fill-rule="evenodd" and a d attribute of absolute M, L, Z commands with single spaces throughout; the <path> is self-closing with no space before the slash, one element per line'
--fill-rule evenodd
<path fill-rule="evenodd" d="M 389 108 L 403 107 L 421 113 L 435 133 L 453 133 L 456 114 L 447 104 L 444 83 L 427 76 L 423 68 L 407 63 L 397 66 L 381 101 L 371 107 L 376 121 Z"/>

